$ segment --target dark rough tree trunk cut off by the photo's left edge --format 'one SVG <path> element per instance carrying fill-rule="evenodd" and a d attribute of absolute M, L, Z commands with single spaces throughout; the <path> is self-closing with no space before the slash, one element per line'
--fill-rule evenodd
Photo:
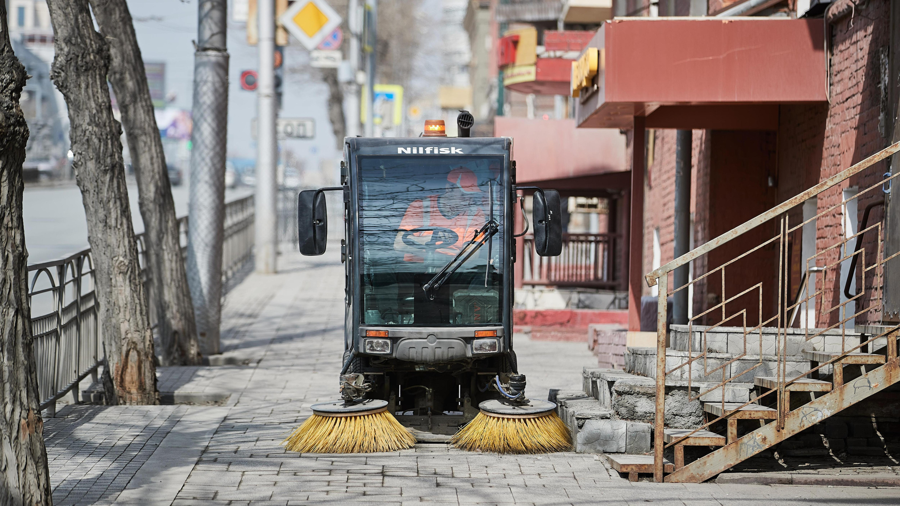
<path fill-rule="evenodd" d="M 19 98 L 25 67 L 15 58 L 0 4 L 0 504 L 53 504 L 31 350 L 22 163 L 28 125 Z"/>

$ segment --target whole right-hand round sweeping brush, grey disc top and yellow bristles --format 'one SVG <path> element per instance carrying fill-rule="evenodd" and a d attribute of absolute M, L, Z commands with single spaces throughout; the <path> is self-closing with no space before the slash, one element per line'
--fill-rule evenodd
<path fill-rule="evenodd" d="M 481 413 L 450 442 L 455 448 L 493 453 L 551 453 L 572 449 L 569 428 L 554 413 L 556 404 L 528 401 L 515 405 L 484 401 Z"/>

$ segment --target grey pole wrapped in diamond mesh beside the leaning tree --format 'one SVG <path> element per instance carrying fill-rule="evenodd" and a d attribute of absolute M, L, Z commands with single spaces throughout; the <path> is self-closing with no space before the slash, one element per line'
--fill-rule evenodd
<path fill-rule="evenodd" d="M 222 235 L 228 140 L 228 0 L 200 0 L 193 54 L 193 135 L 187 280 L 200 351 L 220 353 Z"/>

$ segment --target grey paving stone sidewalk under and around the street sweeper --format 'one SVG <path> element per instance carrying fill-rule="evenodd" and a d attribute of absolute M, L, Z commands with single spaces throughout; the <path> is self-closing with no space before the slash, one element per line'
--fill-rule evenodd
<path fill-rule="evenodd" d="M 78 405 L 48 420 L 55 503 L 900 504 L 898 489 L 631 483 L 602 457 L 573 453 L 500 457 L 443 444 L 366 455 L 287 452 L 280 442 L 310 405 L 337 396 L 344 275 L 333 246 L 312 258 L 288 250 L 282 273 L 251 275 L 229 293 L 223 344 L 251 358 L 248 365 L 172 376 L 183 391 L 227 390 L 226 405 Z M 577 388 L 581 367 L 596 363 L 581 343 L 517 336 L 516 349 L 534 397 Z"/>

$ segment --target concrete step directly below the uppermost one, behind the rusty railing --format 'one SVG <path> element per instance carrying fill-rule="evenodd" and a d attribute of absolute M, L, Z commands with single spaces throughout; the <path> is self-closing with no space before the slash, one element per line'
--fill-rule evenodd
<path fill-rule="evenodd" d="M 687 364 L 690 360 L 690 366 Z M 626 349 L 626 372 L 639 376 L 656 377 L 656 348 Z M 684 365 L 682 365 L 684 364 Z M 707 353 L 698 358 L 697 353 L 666 350 L 666 380 L 707 381 L 719 383 L 723 379 L 732 382 L 753 383 L 753 377 L 777 376 L 779 358 L 776 355 L 745 355 L 736 358 L 732 353 Z M 679 366 L 682 366 L 679 368 Z M 797 377 L 809 370 L 809 360 L 803 355 L 788 356 L 785 374 Z M 826 371 L 823 371 L 823 374 Z M 829 371 L 830 372 L 830 369 Z"/>

